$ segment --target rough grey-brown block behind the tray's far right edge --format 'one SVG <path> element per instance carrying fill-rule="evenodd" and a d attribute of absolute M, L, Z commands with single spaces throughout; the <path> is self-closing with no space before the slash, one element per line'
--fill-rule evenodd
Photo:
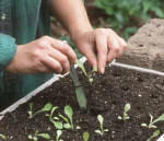
<path fill-rule="evenodd" d="M 164 20 L 150 20 L 128 40 L 128 48 L 118 61 L 164 71 Z"/>

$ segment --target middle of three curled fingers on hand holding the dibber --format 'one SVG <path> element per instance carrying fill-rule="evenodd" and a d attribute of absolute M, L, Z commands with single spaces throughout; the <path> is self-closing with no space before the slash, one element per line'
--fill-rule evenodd
<path fill-rule="evenodd" d="M 62 73 L 66 73 L 70 70 L 69 59 L 66 55 L 63 55 L 62 52 L 60 52 L 59 50 L 55 48 L 50 49 L 49 55 L 61 64 Z"/>

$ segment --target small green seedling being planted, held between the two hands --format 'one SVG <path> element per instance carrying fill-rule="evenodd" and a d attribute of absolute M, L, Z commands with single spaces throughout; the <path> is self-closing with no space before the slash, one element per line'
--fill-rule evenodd
<path fill-rule="evenodd" d="M 97 67 L 93 68 L 93 70 L 87 73 L 84 64 L 80 60 L 77 61 L 77 64 L 83 71 L 83 73 L 86 75 L 89 82 L 92 84 L 93 83 L 93 73 L 98 71 Z"/>

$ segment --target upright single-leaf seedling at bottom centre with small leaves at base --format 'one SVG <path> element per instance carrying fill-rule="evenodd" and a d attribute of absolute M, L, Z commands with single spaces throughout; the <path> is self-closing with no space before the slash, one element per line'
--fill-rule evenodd
<path fill-rule="evenodd" d="M 95 130 L 95 132 L 98 133 L 98 134 L 101 134 L 101 136 L 104 136 L 104 133 L 107 132 L 108 129 L 104 129 L 104 127 L 103 127 L 104 118 L 103 118 L 102 115 L 98 115 L 97 119 L 99 121 L 99 129 Z"/>

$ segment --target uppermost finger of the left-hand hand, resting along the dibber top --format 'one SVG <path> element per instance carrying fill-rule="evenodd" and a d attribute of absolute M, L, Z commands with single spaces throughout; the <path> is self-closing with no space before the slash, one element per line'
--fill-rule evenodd
<path fill-rule="evenodd" d="M 55 38 L 51 38 L 50 40 L 51 46 L 55 49 L 60 50 L 62 54 L 65 54 L 72 63 L 77 63 L 77 55 L 68 44 Z"/>

